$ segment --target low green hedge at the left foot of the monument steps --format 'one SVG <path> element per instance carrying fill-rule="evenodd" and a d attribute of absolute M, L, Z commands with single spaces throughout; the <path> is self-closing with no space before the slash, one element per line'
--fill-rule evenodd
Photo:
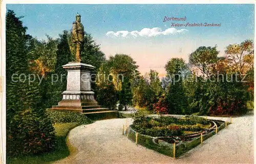
<path fill-rule="evenodd" d="M 56 111 L 47 109 L 46 114 L 52 123 L 73 123 L 90 124 L 92 121 L 86 115 L 70 112 L 70 111 Z"/>

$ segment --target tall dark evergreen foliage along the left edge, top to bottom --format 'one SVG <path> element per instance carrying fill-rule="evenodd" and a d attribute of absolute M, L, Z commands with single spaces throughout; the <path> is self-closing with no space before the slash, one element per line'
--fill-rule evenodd
<path fill-rule="evenodd" d="M 17 156 L 51 151 L 54 148 L 54 132 L 45 111 L 40 108 L 40 89 L 37 81 L 31 84 L 21 82 L 13 74 L 32 72 L 29 63 L 33 48 L 31 36 L 26 34 L 26 27 L 11 10 L 6 15 L 6 62 L 7 62 L 7 156 Z"/>

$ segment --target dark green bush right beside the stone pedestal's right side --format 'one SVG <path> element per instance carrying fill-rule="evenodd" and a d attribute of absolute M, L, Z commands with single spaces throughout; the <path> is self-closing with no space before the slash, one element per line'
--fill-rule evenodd
<path fill-rule="evenodd" d="M 110 108 L 111 110 L 116 109 L 117 104 L 117 91 L 115 90 L 114 84 L 109 83 L 102 86 L 98 86 L 96 90 L 96 101 L 99 105 Z"/>

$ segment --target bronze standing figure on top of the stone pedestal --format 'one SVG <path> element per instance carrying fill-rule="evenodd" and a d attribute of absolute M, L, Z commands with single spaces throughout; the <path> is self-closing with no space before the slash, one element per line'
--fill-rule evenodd
<path fill-rule="evenodd" d="M 76 45 L 76 61 L 81 61 L 81 52 L 83 49 L 84 29 L 81 23 L 81 16 L 76 14 L 76 21 L 73 22 L 72 40 Z"/>

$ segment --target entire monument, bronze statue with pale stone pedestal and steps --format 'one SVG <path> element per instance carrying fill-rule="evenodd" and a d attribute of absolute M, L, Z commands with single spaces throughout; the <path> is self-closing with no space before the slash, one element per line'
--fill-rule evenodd
<path fill-rule="evenodd" d="M 68 71 L 67 90 L 62 92 L 62 100 L 52 110 L 74 111 L 84 114 L 114 112 L 109 108 L 102 108 L 94 99 L 91 88 L 91 71 L 94 66 L 81 62 L 81 52 L 84 43 L 84 29 L 81 24 L 81 16 L 76 15 L 73 22 L 72 40 L 75 43 L 75 62 L 62 65 Z"/>

